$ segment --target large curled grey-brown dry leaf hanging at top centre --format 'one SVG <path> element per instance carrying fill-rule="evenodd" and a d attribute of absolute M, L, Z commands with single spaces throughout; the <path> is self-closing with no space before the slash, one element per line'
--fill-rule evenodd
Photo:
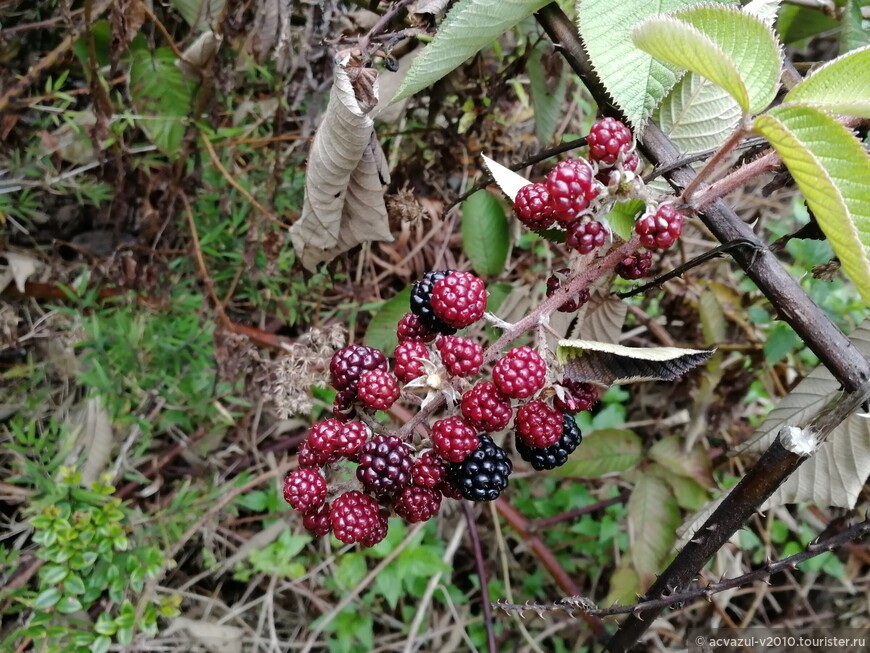
<path fill-rule="evenodd" d="M 336 55 L 326 115 L 314 136 L 305 199 L 290 238 L 302 265 L 313 270 L 372 240 L 393 240 L 384 188 L 389 172 L 369 115 L 378 103 L 377 71 L 358 52 Z"/>

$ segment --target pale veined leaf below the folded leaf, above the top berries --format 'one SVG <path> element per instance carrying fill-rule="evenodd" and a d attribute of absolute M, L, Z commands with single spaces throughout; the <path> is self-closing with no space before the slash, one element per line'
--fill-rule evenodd
<path fill-rule="evenodd" d="M 689 71 L 662 101 L 656 123 L 681 154 L 694 154 L 724 143 L 741 115 L 725 89 Z"/>

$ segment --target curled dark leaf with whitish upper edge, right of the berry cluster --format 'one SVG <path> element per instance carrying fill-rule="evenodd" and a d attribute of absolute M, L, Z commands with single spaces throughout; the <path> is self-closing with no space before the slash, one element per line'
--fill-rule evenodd
<path fill-rule="evenodd" d="M 575 381 L 614 385 L 675 381 L 705 363 L 715 349 L 626 347 L 592 340 L 560 340 L 556 358 Z"/>

